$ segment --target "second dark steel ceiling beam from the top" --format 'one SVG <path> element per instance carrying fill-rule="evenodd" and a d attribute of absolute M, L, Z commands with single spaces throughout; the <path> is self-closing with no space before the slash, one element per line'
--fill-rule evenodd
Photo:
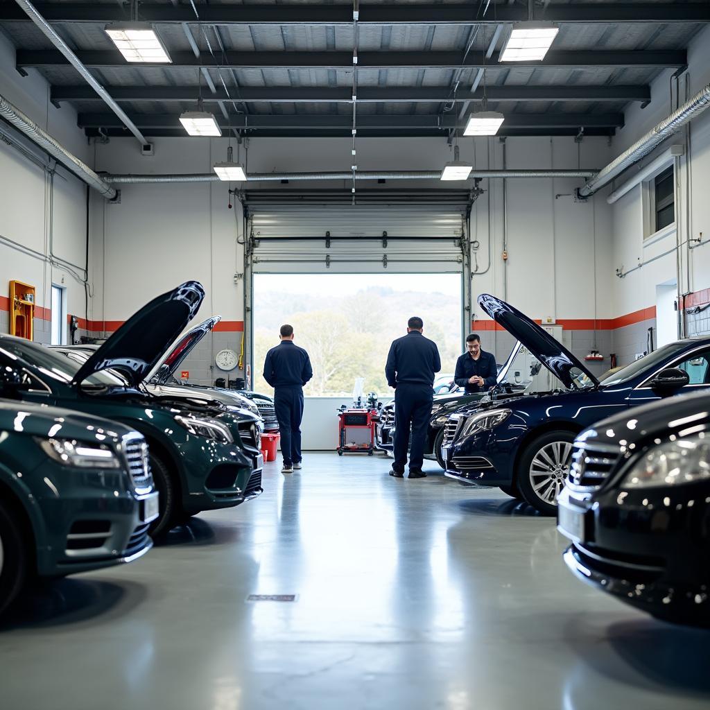
<path fill-rule="evenodd" d="M 710 3 L 709 3 L 710 5 Z M 76 53 L 82 64 L 96 69 L 130 69 L 135 64 L 126 62 L 121 53 L 114 50 L 84 50 Z M 304 67 L 320 69 L 352 69 L 350 52 L 226 52 L 224 63 L 202 55 L 196 58 L 192 52 L 170 52 L 172 64 L 143 64 L 141 67 L 209 67 L 217 69 L 265 69 L 268 67 Z M 220 62 L 222 55 L 219 56 Z M 27 67 L 52 68 L 68 65 L 67 60 L 56 50 L 18 50 L 18 69 Z M 515 68 L 557 68 L 557 67 L 684 67 L 687 65 L 685 50 L 670 51 L 550 51 L 542 62 L 514 62 Z M 460 52 L 361 52 L 358 54 L 358 68 L 387 69 L 402 67 L 409 69 L 461 67 Z M 498 53 L 486 59 L 483 52 L 471 52 L 466 57 L 464 67 L 510 67 L 510 62 L 498 64 Z"/>

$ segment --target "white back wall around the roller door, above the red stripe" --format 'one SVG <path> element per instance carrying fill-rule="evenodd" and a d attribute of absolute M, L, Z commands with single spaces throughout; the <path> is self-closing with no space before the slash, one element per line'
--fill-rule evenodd
<path fill-rule="evenodd" d="M 97 169 L 110 173 L 208 173 L 214 161 L 224 160 L 226 145 L 224 138 L 158 138 L 155 157 L 143 158 L 137 155 L 137 145 L 133 150 L 130 139 L 112 139 L 105 146 L 97 146 Z M 350 148 L 349 140 L 339 138 L 253 139 L 248 170 L 344 170 L 350 165 Z M 506 150 L 510 168 L 577 168 L 578 160 L 583 168 L 601 168 L 611 157 L 605 138 L 586 138 L 579 146 L 572 138 L 509 138 Z M 473 139 L 462 141 L 461 157 L 473 157 L 473 153 Z M 499 168 L 502 153 L 497 139 L 477 139 L 475 164 Z M 363 139 L 358 143 L 357 164 L 364 170 L 434 170 L 449 159 L 451 150 L 444 138 Z M 489 258 L 492 266 L 488 273 L 474 278 L 474 295 L 486 290 L 502 293 L 503 268 L 508 268 L 508 297 L 525 304 L 526 312 L 533 317 L 593 318 L 595 312 L 600 318 L 611 315 L 610 211 L 600 198 L 574 202 L 571 193 L 582 184 L 582 180 L 508 181 L 509 261 L 504 267 L 502 182 L 481 183 L 486 194 L 474 205 L 472 217 L 474 236 L 481 243 L 476 257 L 481 271 Z M 400 188 L 413 185 L 393 183 Z M 299 186 L 349 187 L 349 182 Z M 422 181 L 416 187 L 442 187 L 442 183 Z M 563 196 L 555 200 L 559 193 Z M 100 234 L 97 229 L 96 256 L 97 266 L 105 264 L 106 291 L 95 301 L 94 317 L 123 320 L 142 304 L 146 288 L 149 293 L 160 293 L 182 278 L 197 278 L 207 288 L 210 312 L 219 312 L 226 320 L 243 320 L 241 284 L 235 285 L 233 279 L 235 271 L 242 271 L 243 252 L 236 245 L 237 235 L 241 236 L 241 209 L 239 203 L 227 209 L 227 198 L 226 185 L 214 182 L 122 185 L 120 205 L 101 205 L 105 231 Z M 490 254 L 488 199 L 492 209 Z M 106 252 L 102 255 L 104 239 Z M 594 263 L 595 239 L 596 310 L 593 269 L 589 269 Z M 142 255 L 140 263 L 133 258 L 136 252 Z M 155 268 L 156 261 L 160 268 Z M 126 270 L 135 283 L 146 288 L 126 288 Z M 570 298 L 567 292 L 572 285 L 577 289 Z M 204 313 L 207 315 L 207 310 Z"/>

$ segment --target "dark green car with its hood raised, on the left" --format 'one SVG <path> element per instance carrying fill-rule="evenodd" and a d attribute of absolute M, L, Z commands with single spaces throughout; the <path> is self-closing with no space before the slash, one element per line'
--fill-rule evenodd
<path fill-rule="evenodd" d="M 151 532 L 200 510 L 236 506 L 261 492 L 258 417 L 141 389 L 204 298 L 190 281 L 154 298 L 81 364 L 28 340 L 0 335 L 0 396 L 119 421 L 148 442 L 160 515 Z"/>

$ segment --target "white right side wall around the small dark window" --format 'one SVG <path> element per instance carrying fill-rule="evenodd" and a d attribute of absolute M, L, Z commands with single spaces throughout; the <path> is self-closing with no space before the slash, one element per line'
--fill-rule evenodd
<path fill-rule="evenodd" d="M 692 97 L 710 82 L 710 28 L 699 33 L 688 48 L 689 67 L 680 77 L 680 104 L 687 94 Z M 643 133 L 665 119 L 675 109 L 675 90 L 673 105 L 670 103 L 670 75 L 662 72 L 652 83 L 652 101 L 641 109 L 638 104 L 626 111 L 626 126 L 613 139 L 613 153 L 618 155 L 643 136 Z M 688 77 L 688 92 L 686 92 Z M 701 246 L 693 249 L 688 256 L 688 236 L 697 239 L 703 233 L 703 244 L 710 241 L 710 200 L 707 193 L 710 187 L 710 111 L 697 116 L 690 124 L 689 153 L 680 159 L 679 203 L 676 205 L 677 226 L 682 242 L 683 273 L 681 290 L 683 293 L 697 292 L 710 286 L 710 247 Z M 618 180 L 616 187 L 629 180 L 635 172 L 654 160 L 669 146 L 684 143 L 684 133 L 670 138 L 643 160 L 642 163 L 627 170 Z M 690 170 L 688 170 L 690 168 Z M 690 180 L 689 180 L 690 175 Z M 602 190 L 599 194 L 607 195 L 615 187 Z M 628 274 L 625 278 L 613 278 L 613 300 L 618 314 L 635 312 L 655 305 L 657 285 L 667 283 L 676 276 L 675 251 L 660 256 L 665 251 L 673 250 L 676 244 L 675 232 L 670 232 L 652 244 L 643 244 L 643 205 L 640 185 L 634 187 L 612 207 L 613 219 L 613 268 L 623 266 L 624 271 L 645 264 L 642 268 Z"/>

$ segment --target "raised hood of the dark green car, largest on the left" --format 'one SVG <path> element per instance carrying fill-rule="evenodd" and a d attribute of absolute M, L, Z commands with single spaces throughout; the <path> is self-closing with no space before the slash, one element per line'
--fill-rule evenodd
<path fill-rule="evenodd" d="M 89 357 L 72 384 L 80 385 L 95 372 L 115 368 L 137 387 L 195 317 L 202 299 L 204 288 L 197 281 L 186 281 L 154 298 Z"/>

